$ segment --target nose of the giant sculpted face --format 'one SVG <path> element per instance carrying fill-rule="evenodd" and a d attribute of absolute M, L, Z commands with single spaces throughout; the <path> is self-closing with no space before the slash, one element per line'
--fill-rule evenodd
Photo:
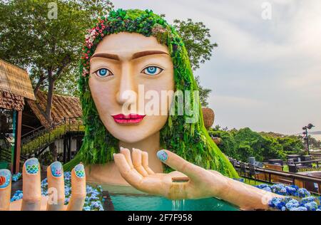
<path fill-rule="evenodd" d="M 117 101 L 120 105 L 132 105 L 133 103 L 136 103 L 136 99 L 137 92 L 131 65 L 130 63 L 123 63 L 121 68 L 121 80 L 119 83 Z"/>

